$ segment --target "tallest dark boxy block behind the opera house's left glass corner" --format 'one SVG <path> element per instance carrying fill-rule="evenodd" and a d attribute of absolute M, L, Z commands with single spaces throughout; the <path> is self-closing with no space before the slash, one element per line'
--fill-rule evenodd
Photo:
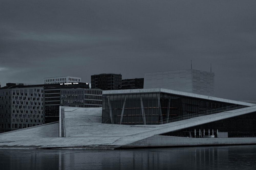
<path fill-rule="evenodd" d="M 118 90 L 122 88 L 122 74 L 104 73 L 91 75 L 91 88 Z"/>

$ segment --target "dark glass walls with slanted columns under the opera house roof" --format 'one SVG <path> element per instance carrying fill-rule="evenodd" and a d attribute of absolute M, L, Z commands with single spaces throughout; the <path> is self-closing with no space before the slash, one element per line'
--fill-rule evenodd
<path fill-rule="evenodd" d="M 102 123 L 164 124 L 243 107 L 163 92 L 104 94 Z"/>

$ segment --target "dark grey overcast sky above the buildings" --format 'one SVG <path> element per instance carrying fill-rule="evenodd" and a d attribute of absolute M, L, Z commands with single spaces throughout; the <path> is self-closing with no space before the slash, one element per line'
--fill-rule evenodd
<path fill-rule="evenodd" d="M 215 96 L 254 100 L 256 1 L 0 0 L 0 82 L 192 68 Z"/>

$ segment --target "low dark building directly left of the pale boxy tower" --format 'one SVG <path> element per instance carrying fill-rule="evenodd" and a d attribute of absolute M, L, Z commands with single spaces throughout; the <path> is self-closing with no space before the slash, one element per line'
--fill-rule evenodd
<path fill-rule="evenodd" d="M 122 80 L 122 89 L 138 89 L 143 88 L 144 78 L 141 79 L 124 79 Z"/>

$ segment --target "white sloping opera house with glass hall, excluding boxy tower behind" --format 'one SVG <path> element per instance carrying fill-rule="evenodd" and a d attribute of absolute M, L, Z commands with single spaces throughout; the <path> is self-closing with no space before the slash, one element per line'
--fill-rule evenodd
<path fill-rule="evenodd" d="M 163 88 L 105 90 L 102 108 L 60 107 L 59 122 L 0 134 L 0 147 L 138 148 L 255 143 L 255 104 Z"/>

